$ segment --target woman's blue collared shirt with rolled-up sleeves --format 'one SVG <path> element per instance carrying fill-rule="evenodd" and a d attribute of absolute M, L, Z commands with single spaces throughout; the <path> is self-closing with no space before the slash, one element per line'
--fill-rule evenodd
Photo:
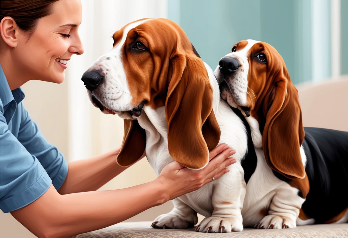
<path fill-rule="evenodd" d="M 21 88 L 10 90 L 0 66 L 0 208 L 12 212 L 58 190 L 68 164 L 24 108 Z"/>

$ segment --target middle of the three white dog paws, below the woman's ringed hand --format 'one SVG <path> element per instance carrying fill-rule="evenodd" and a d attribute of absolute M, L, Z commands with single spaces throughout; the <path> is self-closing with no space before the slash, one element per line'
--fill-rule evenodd
<path fill-rule="evenodd" d="M 207 233 L 223 233 L 231 231 L 242 231 L 243 230 L 243 219 L 242 217 L 207 217 L 196 227 L 198 232 Z"/>

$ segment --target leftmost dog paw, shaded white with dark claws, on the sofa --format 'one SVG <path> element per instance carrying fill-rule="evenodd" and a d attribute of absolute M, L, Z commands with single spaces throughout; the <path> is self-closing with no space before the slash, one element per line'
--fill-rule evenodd
<path fill-rule="evenodd" d="M 196 214 L 189 215 L 185 218 L 174 214 L 159 215 L 151 224 L 156 229 L 186 229 L 192 228 L 198 222 Z"/>

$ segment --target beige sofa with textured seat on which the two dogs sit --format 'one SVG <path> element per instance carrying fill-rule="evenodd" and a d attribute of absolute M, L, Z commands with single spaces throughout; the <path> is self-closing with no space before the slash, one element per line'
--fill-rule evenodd
<path fill-rule="evenodd" d="M 303 125 L 307 127 L 323 127 L 348 131 L 348 75 L 329 79 L 324 82 L 304 83 L 296 86 L 299 90 L 303 113 Z M 348 146 L 348 145 L 347 145 Z M 119 224 L 74 236 L 87 237 L 119 237 L 119 238 L 155 238 L 155 237 L 341 237 L 348 238 L 348 224 L 325 224 L 300 226 L 294 229 L 259 230 L 244 229 L 242 232 L 206 234 L 194 229 L 162 230 L 150 228 L 151 220 L 161 213 L 172 209 L 172 204 L 149 209 L 131 220 Z M 199 220 L 203 219 L 202 216 Z M 143 220 L 143 221 L 141 221 Z M 136 221 L 136 222 L 135 222 Z"/>

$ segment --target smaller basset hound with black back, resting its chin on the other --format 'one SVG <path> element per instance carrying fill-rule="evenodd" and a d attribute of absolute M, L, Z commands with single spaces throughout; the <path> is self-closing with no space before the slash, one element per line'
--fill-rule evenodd
<path fill-rule="evenodd" d="M 265 42 L 240 41 L 214 74 L 222 99 L 250 125 L 256 147 L 243 224 L 267 229 L 347 222 L 348 132 L 302 126 L 298 91 L 280 54 Z"/>

